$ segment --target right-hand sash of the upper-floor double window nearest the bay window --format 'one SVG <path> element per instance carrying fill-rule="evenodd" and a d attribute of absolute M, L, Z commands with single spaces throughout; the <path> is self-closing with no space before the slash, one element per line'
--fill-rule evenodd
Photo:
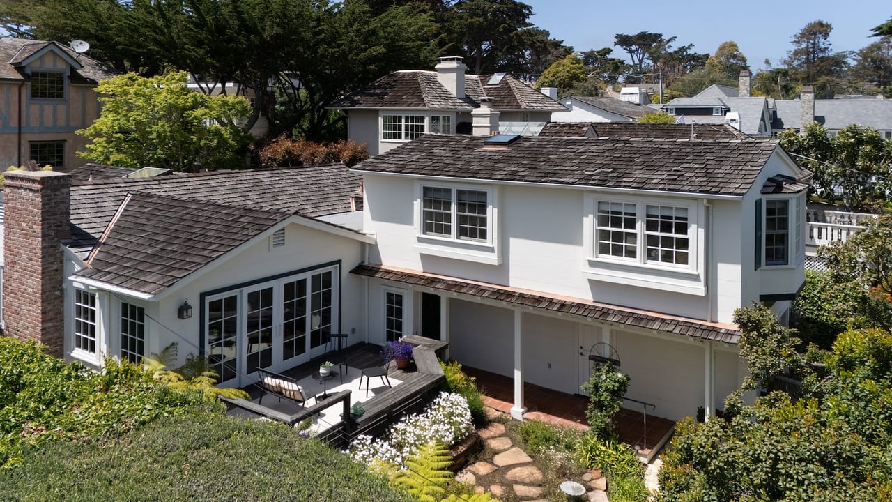
<path fill-rule="evenodd" d="M 671 205 L 648 205 L 644 235 L 648 262 L 687 265 L 690 253 L 688 209 Z"/>

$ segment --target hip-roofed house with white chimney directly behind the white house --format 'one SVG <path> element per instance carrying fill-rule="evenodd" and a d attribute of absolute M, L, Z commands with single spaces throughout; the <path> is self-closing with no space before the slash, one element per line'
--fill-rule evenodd
<path fill-rule="evenodd" d="M 347 138 L 379 155 L 426 133 L 470 133 L 473 121 L 485 134 L 534 135 L 565 109 L 510 75 L 468 75 L 460 57 L 442 57 L 434 69 L 394 71 L 336 101 L 331 108 L 346 114 Z"/>

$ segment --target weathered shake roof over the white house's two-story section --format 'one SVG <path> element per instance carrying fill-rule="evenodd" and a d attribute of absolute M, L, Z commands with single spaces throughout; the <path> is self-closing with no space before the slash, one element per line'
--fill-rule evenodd
<path fill-rule="evenodd" d="M 425 135 L 359 163 L 382 172 L 553 185 L 742 197 L 778 141 L 517 138 L 483 146 L 483 137 Z M 418 162 L 424 159 L 424 162 Z"/>

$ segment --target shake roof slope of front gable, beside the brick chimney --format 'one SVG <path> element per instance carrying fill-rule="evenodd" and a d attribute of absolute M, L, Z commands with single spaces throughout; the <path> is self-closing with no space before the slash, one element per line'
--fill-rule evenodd
<path fill-rule="evenodd" d="M 158 293 L 290 215 L 128 194 L 78 276 Z"/>

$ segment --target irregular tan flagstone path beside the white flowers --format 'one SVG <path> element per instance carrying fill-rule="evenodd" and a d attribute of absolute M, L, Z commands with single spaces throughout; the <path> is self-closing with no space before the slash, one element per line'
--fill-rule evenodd
<path fill-rule="evenodd" d="M 490 423 L 477 431 L 486 447 L 497 452 L 491 462 L 476 462 L 456 474 L 456 481 L 474 485 L 476 493 L 490 492 L 493 497 L 502 498 L 513 494 L 512 498 L 524 502 L 548 502 L 545 489 L 541 487 L 542 473 L 533 465 L 533 459 L 524 450 L 517 448 L 505 435 L 505 426 Z M 585 487 L 585 496 L 580 500 L 590 502 L 607 501 L 607 480 L 600 471 L 591 470 L 581 479 L 575 480 Z"/>

